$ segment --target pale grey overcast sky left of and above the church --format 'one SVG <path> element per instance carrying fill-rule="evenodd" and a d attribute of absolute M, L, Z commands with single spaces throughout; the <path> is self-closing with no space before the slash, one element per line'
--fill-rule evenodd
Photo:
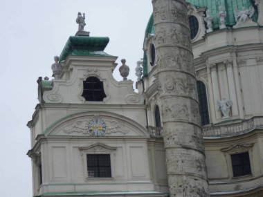
<path fill-rule="evenodd" d="M 152 13 L 151 0 L 0 0 L 0 196 L 32 196 L 31 120 L 37 100 L 37 78 L 52 79 L 53 57 L 75 35 L 78 12 L 86 13 L 84 30 L 109 37 L 105 50 L 125 58 L 128 79 L 136 80 L 143 57 L 143 37 Z M 120 80 L 118 67 L 114 73 Z"/>

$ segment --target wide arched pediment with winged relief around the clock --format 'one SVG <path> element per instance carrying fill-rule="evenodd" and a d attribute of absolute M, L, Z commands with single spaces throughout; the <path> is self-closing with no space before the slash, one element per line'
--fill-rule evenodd
<path fill-rule="evenodd" d="M 45 135 L 69 135 L 87 137 L 148 137 L 147 130 L 130 118 L 116 113 L 83 112 L 66 115 L 48 127 Z"/>

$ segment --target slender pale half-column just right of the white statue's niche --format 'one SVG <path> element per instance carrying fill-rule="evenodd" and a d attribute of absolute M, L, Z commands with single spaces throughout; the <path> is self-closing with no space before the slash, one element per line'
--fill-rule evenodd
<path fill-rule="evenodd" d="M 226 59 L 224 61 L 224 64 L 226 65 L 226 74 L 228 77 L 228 89 L 229 89 L 229 95 L 230 100 L 232 103 L 232 115 L 238 115 L 238 107 L 237 107 L 237 94 L 235 90 L 235 79 L 233 75 L 233 61 L 232 59 Z"/>

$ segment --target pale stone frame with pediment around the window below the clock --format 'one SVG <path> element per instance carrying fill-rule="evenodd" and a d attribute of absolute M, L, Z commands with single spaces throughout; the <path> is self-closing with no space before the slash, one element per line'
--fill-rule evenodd
<path fill-rule="evenodd" d="M 102 143 L 92 144 L 89 147 L 79 147 L 80 155 L 82 156 L 83 162 L 83 171 L 84 171 L 84 179 L 85 181 L 89 180 L 112 180 L 115 178 L 115 155 L 117 147 L 109 147 Z M 88 172 L 88 164 L 87 164 L 87 155 L 105 155 L 109 154 L 110 157 L 110 165 L 111 165 L 111 177 L 89 177 Z"/>

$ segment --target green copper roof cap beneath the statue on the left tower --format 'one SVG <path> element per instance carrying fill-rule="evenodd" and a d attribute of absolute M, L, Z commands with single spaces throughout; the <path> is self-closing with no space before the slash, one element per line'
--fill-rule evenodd
<path fill-rule="evenodd" d="M 103 51 L 108 43 L 109 37 L 71 36 L 60 54 L 60 62 L 68 55 L 109 56 Z"/>

